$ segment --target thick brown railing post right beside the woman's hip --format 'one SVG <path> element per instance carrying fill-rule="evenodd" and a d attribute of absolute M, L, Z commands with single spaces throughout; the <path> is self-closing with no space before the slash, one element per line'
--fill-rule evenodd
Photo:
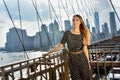
<path fill-rule="evenodd" d="M 65 67 L 65 80 L 70 80 L 69 70 L 68 70 L 67 54 L 68 54 L 68 51 L 66 49 L 63 49 L 63 59 L 64 59 L 64 67 Z"/>

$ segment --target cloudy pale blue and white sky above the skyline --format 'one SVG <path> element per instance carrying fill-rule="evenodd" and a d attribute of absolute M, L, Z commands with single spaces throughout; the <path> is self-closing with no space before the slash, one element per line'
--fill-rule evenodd
<path fill-rule="evenodd" d="M 15 27 L 20 28 L 17 1 L 18 0 L 5 0 L 11 17 L 15 23 Z M 50 2 L 48 3 L 48 1 Z M 111 1 L 113 2 L 120 17 L 120 0 Z M 77 5 L 76 2 L 79 4 Z M 22 18 L 22 28 L 27 31 L 29 36 L 34 36 L 39 29 L 37 24 L 37 14 L 35 8 L 33 7 L 32 0 L 19 0 L 19 3 Z M 80 14 L 84 20 L 89 20 L 92 27 L 94 26 L 93 13 L 95 11 L 99 12 L 100 24 L 108 22 L 109 12 L 113 11 L 109 0 L 36 0 L 36 3 L 42 22 L 47 26 L 53 22 L 54 19 L 57 20 L 58 18 L 60 26 L 64 27 L 64 20 L 71 20 L 74 14 Z M 67 13 L 65 11 L 67 11 Z M 57 17 L 55 15 L 57 15 Z M 119 29 L 120 24 L 118 20 L 116 21 L 117 29 Z M 41 25 L 40 21 L 39 23 Z M 6 11 L 5 5 L 3 4 L 3 0 L 0 0 L 0 47 L 5 46 L 6 33 L 9 32 L 9 29 L 12 27 L 13 25 Z"/>

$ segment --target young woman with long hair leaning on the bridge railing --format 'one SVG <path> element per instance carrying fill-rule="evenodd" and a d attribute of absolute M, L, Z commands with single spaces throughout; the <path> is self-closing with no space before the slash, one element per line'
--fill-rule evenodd
<path fill-rule="evenodd" d="M 90 65 L 87 49 L 90 42 L 90 32 L 80 15 L 74 15 L 72 23 L 73 28 L 64 33 L 60 44 L 47 54 L 43 54 L 43 56 L 61 49 L 67 43 L 69 50 L 68 65 L 72 80 L 90 80 Z"/>

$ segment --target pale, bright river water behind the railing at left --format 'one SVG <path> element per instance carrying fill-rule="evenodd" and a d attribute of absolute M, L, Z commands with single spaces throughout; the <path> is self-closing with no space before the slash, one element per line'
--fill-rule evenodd
<path fill-rule="evenodd" d="M 42 54 L 46 52 L 41 51 L 28 51 L 27 55 L 29 59 L 41 57 Z M 15 63 L 18 61 L 25 60 L 25 53 L 24 52 L 0 52 L 0 66 Z"/>

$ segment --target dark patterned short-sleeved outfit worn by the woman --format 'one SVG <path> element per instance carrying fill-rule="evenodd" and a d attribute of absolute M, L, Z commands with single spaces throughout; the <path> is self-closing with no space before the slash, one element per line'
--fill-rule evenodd
<path fill-rule="evenodd" d="M 70 53 L 82 50 L 84 46 L 82 35 L 66 31 L 61 40 L 61 44 L 64 45 L 65 43 L 67 43 L 69 50 L 68 66 L 72 80 L 90 80 L 88 60 L 84 52 L 80 54 Z"/>

